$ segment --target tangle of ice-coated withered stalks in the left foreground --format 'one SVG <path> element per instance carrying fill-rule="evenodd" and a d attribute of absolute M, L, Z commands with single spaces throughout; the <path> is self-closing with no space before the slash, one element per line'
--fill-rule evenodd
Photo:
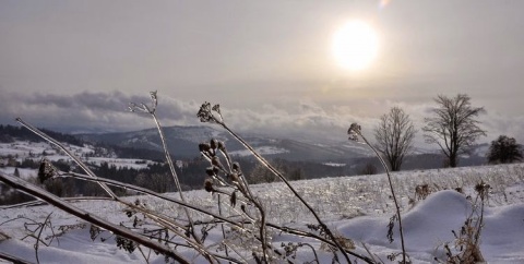
<path fill-rule="evenodd" d="M 199 147 L 201 154 L 211 164 L 206 170 L 209 178 L 204 182 L 204 188 L 217 196 L 218 213 L 214 213 L 215 211 L 213 208 L 202 208 L 199 205 L 189 203 L 181 192 L 177 172 L 175 171 L 170 154 L 167 151 L 165 135 L 156 116 L 156 92 L 152 92 L 150 95 L 152 99 L 151 106 L 145 104 L 131 104 L 130 110 L 150 115 L 157 125 L 158 134 L 163 142 L 166 163 L 169 165 L 171 176 L 179 191 L 179 199 L 160 194 L 135 184 L 97 177 L 81 158 L 76 157 L 64 145 L 20 118 L 16 119 L 19 123 L 66 153 L 83 170 L 83 173 L 61 171 L 49 160 L 43 159 L 38 170 L 38 179 L 40 182 L 45 183 L 50 180 L 56 180 L 57 178 L 66 177 L 95 182 L 105 191 L 110 201 L 123 207 L 122 213 L 126 214 L 129 220 L 119 224 L 110 223 L 96 214 L 75 207 L 69 203 L 72 199 L 58 197 L 21 178 L 3 172 L 0 172 L 0 181 L 39 200 L 32 202 L 32 204 L 41 204 L 44 202 L 88 223 L 92 227 L 91 235 L 93 239 L 99 238 L 100 241 L 107 241 L 107 239 L 111 237 L 121 250 L 127 252 L 139 250 L 145 262 L 148 262 L 151 259 L 151 252 L 162 254 L 166 259 L 178 263 L 194 262 L 196 259 L 187 259 L 187 256 L 178 252 L 177 249 L 183 248 L 193 251 L 193 257 L 201 257 L 200 260 L 203 259 L 210 263 L 246 263 L 251 261 L 255 261 L 257 263 L 273 263 L 293 261 L 293 257 L 297 253 L 296 250 L 294 252 L 293 249 L 302 247 L 311 249 L 315 255 L 313 261 L 319 262 L 317 256 L 317 250 L 319 249 L 314 249 L 311 244 L 297 243 L 296 247 L 278 247 L 271 242 L 274 233 L 286 232 L 320 241 L 324 249 L 333 252 L 333 260 L 335 262 L 341 261 L 337 254 L 342 254 L 346 263 L 352 262 L 348 255 L 353 255 L 366 263 L 374 263 L 371 259 L 353 252 L 352 240 L 335 236 L 327 228 L 320 216 L 303 197 L 298 194 L 287 179 L 224 123 L 218 106 L 212 109 L 210 104 L 204 104 L 198 113 L 201 121 L 218 123 L 231 133 L 231 135 L 245 145 L 269 170 L 286 183 L 296 197 L 313 214 L 318 220 L 318 225 L 312 225 L 314 228 L 309 228 L 309 230 L 300 230 L 267 221 L 263 201 L 250 190 L 250 185 L 240 166 L 238 163 L 231 160 L 224 142 L 216 140 L 211 140 L 209 143 L 201 144 Z M 215 116 L 213 116 L 212 111 Z M 140 199 L 135 202 L 129 202 L 118 196 L 112 191 L 115 188 L 134 191 L 146 194 L 150 197 L 172 203 L 183 209 L 186 217 L 174 218 L 165 215 L 165 213 L 156 212 L 155 208 L 150 207 Z M 221 201 L 221 197 L 227 199 Z M 99 199 L 107 200 L 108 197 Z M 228 206 L 229 212 L 235 212 L 235 214 L 226 215 L 226 213 L 223 212 L 224 206 Z M 199 220 L 193 220 L 193 216 L 198 216 Z M 222 229 L 223 240 L 218 242 L 207 241 L 206 238 L 210 231 L 215 228 Z M 61 235 L 69 231 L 69 229 L 59 229 L 58 231 L 60 231 L 59 235 Z M 100 232 L 107 232 L 107 236 L 102 237 L 99 236 Z M 58 236 L 52 237 L 58 238 Z M 146 252 L 146 249 L 150 251 Z M 11 256 L 4 254 L 0 257 L 10 260 Z M 23 260 L 20 260 L 20 262 L 23 262 Z"/>

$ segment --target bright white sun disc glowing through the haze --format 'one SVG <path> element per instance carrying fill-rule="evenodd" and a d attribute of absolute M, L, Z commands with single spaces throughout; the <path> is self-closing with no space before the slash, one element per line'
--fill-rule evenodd
<path fill-rule="evenodd" d="M 344 69 L 368 68 L 379 51 L 376 31 L 362 21 L 350 21 L 333 35 L 333 56 Z"/>

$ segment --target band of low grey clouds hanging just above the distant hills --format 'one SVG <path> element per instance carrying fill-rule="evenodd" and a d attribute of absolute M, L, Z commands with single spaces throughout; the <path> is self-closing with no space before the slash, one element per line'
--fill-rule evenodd
<path fill-rule="evenodd" d="M 157 115 L 164 125 L 211 125 L 202 124 L 196 112 L 203 101 L 184 101 L 158 95 Z M 11 93 L 4 95 L 0 105 L 0 122 L 14 124 L 20 117 L 37 127 L 75 132 L 133 131 L 154 125 L 147 115 L 128 110 L 129 103 L 151 104 L 147 95 L 128 95 L 121 92 L 91 93 L 73 95 L 37 93 L 32 95 Z M 217 101 L 211 101 L 216 104 Z M 393 106 L 403 108 L 418 130 L 416 144 L 425 145 L 420 128 L 428 117 L 431 101 L 371 101 L 381 105 L 380 109 Z M 311 99 L 275 100 L 257 107 L 229 108 L 222 105 L 228 125 L 242 133 L 270 134 L 274 136 L 299 136 L 310 140 L 345 141 L 346 130 L 353 122 L 361 124 L 364 132 L 372 139 L 372 129 L 380 115 L 365 116 L 361 109 L 347 106 L 321 106 Z M 480 117 L 483 129 L 488 136 L 480 142 L 490 142 L 500 134 L 524 142 L 524 117 L 505 117 L 497 112 L 487 112 Z"/>

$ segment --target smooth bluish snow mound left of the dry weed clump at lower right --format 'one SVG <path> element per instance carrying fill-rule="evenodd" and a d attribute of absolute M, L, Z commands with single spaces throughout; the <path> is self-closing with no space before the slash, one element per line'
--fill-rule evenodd
<path fill-rule="evenodd" d="M 422 259 L 441 255 L 439 247 L 453 241 L 452 230 L 460 230 L 471 212 L 471 203 L 456 191 L 444 190 L 429 195 L 402 215 L 406 250 Z M 358 217 L 343 226 L 341 231 L 348 238 L 384 247 L 388 249 L 383 249 L 384 254 L 388 254 L 402 249 L 398 221 L 394 224 L 392 243 L 386 239 L 389 219 L 384 217 Z"/>

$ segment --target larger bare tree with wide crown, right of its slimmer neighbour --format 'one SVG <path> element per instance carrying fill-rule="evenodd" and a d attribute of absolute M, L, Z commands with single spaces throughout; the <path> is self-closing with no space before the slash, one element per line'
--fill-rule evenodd
<path fill-rule="evenodd" d="M 454 98 L 439 95 L 434 98 L 437 108 L 431 109 L 432 117 L 426 118 L 426 142 L 438 144 L 448 158 L 448 165 L 456 167 L 458 155 L 468 152 L 480 136 L 486 136 L 476 118 L 485 113 L 484 107 L 473 107 L 468 95 L 458 94 Z"/>

